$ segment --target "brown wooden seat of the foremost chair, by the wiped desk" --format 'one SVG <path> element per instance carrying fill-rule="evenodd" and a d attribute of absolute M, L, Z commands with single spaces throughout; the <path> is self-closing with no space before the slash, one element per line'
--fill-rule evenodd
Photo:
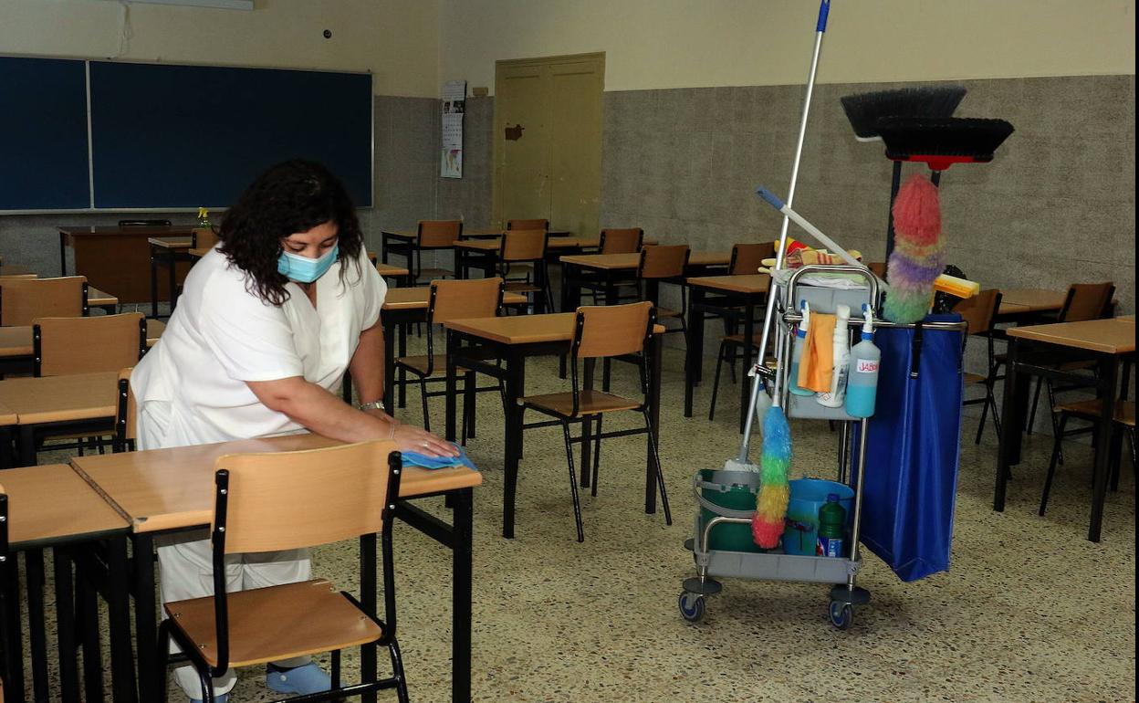
<path fill-rule="evenodd" d="M 354 647 L 383 630 L 323 579 L 229 594 L 229 664 L 264 662 Z M 218 664 L 213 596 L 167 603 L 166 614 Z"/>

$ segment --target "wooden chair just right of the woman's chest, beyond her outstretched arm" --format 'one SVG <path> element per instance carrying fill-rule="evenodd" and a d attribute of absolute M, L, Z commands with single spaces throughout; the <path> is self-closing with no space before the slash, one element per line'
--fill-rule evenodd
<path fill-rule="evenodd" d="M 431 299 L 427 304 L 427 353 L 418 357 L 401 357 L 395 360 L 395 370 L 400 373 L 401 382 L 404 382 L 404 375 L 409 373 L 419 379 L 424 428 L 428 432 L 431 431 L 431 416 L 427 411 L 427 399 L 443 395 L 445 391 L 428 392 L 427 382 L 431 379 L 446 381 L 446 355 L 435 353 L 435 326 L 451 320 L 497 317 L 502 309 L 503 289 L 505 285 L 501 278 L 433 280 L 431 283 Z M 466 443 L 468 436 L 474 436 L 473 433 L 468 434 L 474 428 L 474 393 L 500 389 L 499 386 L 477 389 L 473 371 L 459 369 L 459 373 L 464 375 L 462 443 Z"/>

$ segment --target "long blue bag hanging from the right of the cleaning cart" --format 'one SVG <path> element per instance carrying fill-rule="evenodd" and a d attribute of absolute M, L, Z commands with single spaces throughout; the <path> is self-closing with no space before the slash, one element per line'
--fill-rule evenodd
<path fill-rule="evenodd" d="M 931 314 L 924 322 L 959 322 Z M 949 570 L 961 445 L 964 333 L 883 328 L 860 541 L 902 581 Z M 853 432 L 851 475 L 857 474 Z"/>

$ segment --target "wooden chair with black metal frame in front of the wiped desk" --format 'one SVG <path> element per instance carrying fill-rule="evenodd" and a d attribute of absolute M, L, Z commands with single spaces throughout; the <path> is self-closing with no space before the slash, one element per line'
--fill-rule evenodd
<path fill-rule="evenodd" d="M 211 524 L 214 595 L 165 604 L 158 651 L 171 638 L 213 701 L 211 679 L 230 667 L 331 652 L 331 700 L 395 688 L 408 701 L 395 639 L 392 521 L 400 493 L 395 442 L 375 441 L 309 451 L 227 455 L 214 464 Z M 383 554 L 385 621 L 376 616 L 376 536 Z M 277 551 L 360 540 L 360 599 L 323 579 L 226 592 L 230 554 Z M 361 648 L 360 684 L 342 686 L 341 651 Z M 393 676 L 376 680 L 377 646 L 387 647 Z M 163 662 L 165 669 L 166 662 Z M 165 701 L 166 686 L 159 687 Z"/>

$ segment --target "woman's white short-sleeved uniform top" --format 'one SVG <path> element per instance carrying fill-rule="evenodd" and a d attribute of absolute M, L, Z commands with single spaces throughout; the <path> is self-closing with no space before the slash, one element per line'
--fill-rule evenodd
<path fill-rule="evenodd" d="M 148 415 L 166 420 L 161 430 L 139 427 L 140 440 L 158 440 L 142 449 L 303 430 L 262 404 L 246 382 L 304 376 L 337 393 L 360 333 L 379 319 L 387 293 L 363 251 L 359 272 L 346 261 L 342 280 L 341 263 L 334 263 L 317 280 L 316 308 L 295 283 L 285 286 L 287 301 L 271 305 L 247 291 L 246 280 L 216 248 L 186 277 L 166 330 L 131 374 L 140 422 Z M 156 406 L 144 414 L 148 403 Z"/>

